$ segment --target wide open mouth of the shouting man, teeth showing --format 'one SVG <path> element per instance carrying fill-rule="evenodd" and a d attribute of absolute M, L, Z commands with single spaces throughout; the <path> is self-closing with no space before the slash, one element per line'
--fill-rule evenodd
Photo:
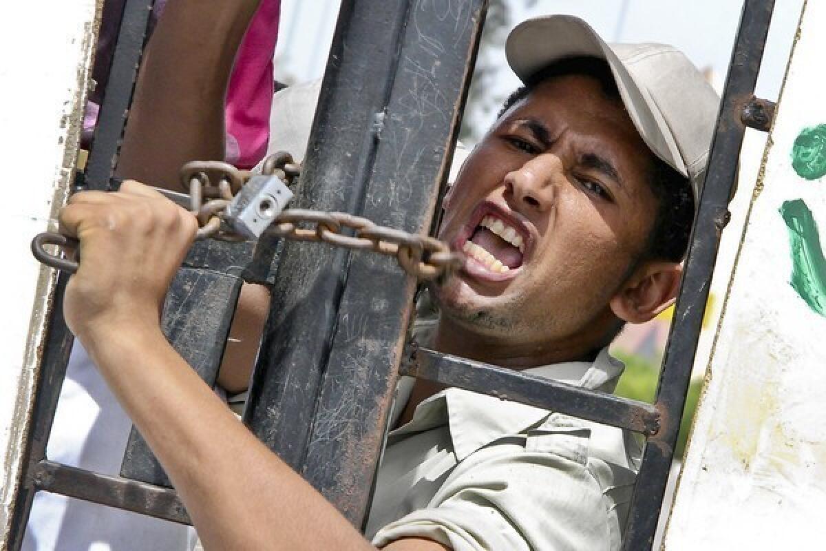
<path fill-rule="evenodd" d="M 522 265 L 525 237 L 508 221 L 488 212 L 472 230 L 462 249 L 488 272 L 507 274 Z"/>

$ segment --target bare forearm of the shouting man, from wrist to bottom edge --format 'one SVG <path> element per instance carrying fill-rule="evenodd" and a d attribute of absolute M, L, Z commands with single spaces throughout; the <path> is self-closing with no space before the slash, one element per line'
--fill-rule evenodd
<path fill-rule="evenodd" d="M 84 344 L 169 473 L 206 549 L 373 549 L 246 430 L 159 329 L 123 329 Z"/>

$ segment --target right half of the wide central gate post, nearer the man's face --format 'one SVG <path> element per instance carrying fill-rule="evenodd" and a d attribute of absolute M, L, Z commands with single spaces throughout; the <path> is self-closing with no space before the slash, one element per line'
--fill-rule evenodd
<path fill-rule="evenodd" d="M 430 228 L 477 52 L 485 0 L 412 2 L 362 215 Z M 302 474 L 354 525 L 369 509 L 415 281 L 390 259 L 350 261 Z"/>

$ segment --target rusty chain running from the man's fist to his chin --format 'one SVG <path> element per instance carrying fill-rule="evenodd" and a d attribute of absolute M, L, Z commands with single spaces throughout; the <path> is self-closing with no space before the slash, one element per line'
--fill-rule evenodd
<path fill-rule="evenodd" d="M 301 165 L 292 155 L 278 152 L 264 160 L 262 172 L 281 178 L 293 188 L 301 175 Z M 189 211 L 198 220 L 196 239 L 244 240 L 244 236 L 223 223 L 223 218 L 235 193 L 252 175 L 220 161 L 183 165 L 181 183 L 191 199 Z M 419 279 L 444 278 L 464 262 L 462 255 L 451 251 L 444 241 L 377 226 L 345 212 L 287 209 L 275 218 L 267 233 L 288 240 L 323 242 L 393 256 L 406 273 Z"/>

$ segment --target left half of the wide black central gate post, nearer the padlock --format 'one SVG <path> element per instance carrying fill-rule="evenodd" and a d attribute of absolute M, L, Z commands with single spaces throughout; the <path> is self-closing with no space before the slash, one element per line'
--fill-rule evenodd
<path fill-rule="evenodd" d="M 344 0 L 297 206 L 357 212 L 408 10 L 407 0 Z M 330 353 L 349 252 L 287 242 L 245 411 L 254 434 L 292 468 L 303 461 Z"/>

